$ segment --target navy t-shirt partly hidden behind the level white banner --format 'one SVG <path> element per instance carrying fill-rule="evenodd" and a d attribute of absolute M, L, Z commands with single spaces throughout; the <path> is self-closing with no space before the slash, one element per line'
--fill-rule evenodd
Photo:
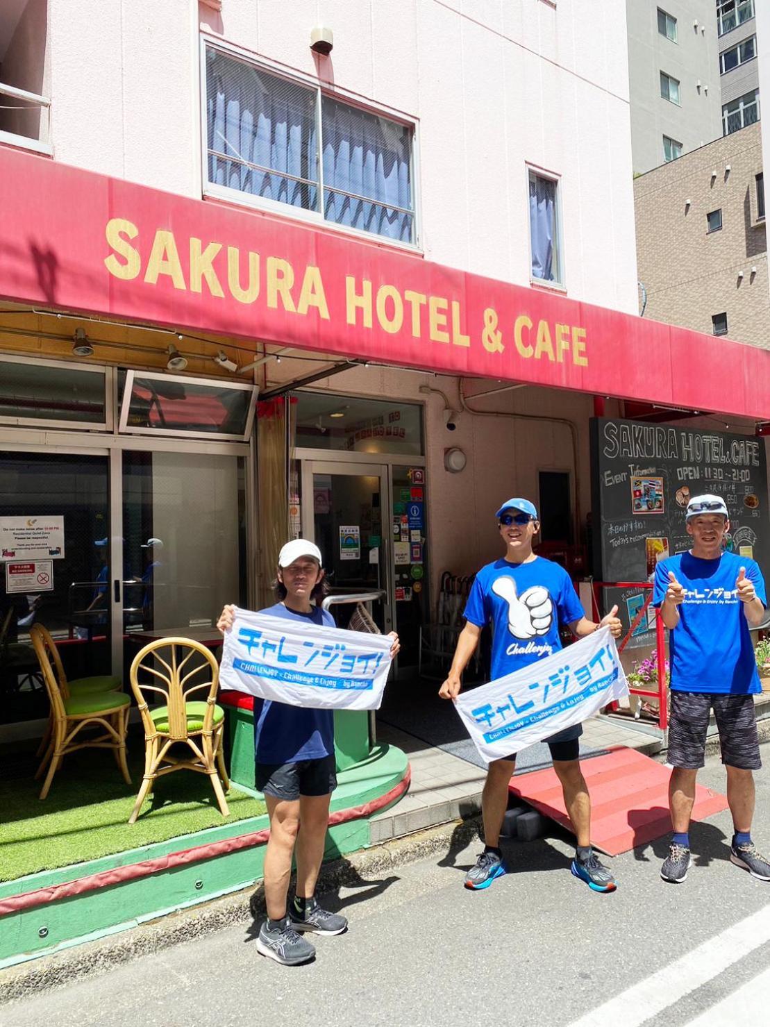
<path fill-rule="evenodd" d="M 331 613 L 313 607 L 310 613 L 297 613 L 282 603 L 260 610 L 271 617 L 283 617 L 299 623 L 335 626 Z M 254 752 L 258 763 L 299 763 L 333 756 L 335 751 L 334 710 L 306 710 L 274 702 L 254 700 Z"/>

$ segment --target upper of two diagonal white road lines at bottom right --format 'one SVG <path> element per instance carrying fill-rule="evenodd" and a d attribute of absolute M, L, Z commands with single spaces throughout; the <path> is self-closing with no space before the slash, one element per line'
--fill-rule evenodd
<path fill-rule="evenodd" d="M 770 906 L 709 938 L 667 966 L 591 1010 L 570 1027 L 640 1027 L 749 952 L 770 942 Z M 665 944 L 665 943 L 664 943 Z M 611 961 L 608 962 L 608 969 Z M 733 1023 L 735 1019 L 733 1018 Z"/>

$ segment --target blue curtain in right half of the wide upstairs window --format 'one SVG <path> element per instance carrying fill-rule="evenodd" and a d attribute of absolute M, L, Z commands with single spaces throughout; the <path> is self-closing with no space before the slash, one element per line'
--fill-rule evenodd
<path fill-rule="evenodd" d="M 328 97 L 321 103 L 326 220 L 413 241 L 409 128 Z"/>

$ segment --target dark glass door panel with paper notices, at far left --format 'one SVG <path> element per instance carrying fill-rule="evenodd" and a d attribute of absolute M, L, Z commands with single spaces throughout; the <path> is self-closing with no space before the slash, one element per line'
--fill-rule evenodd
<path fill-rule="evenodd" d="M 109 459 L 0 451 L 0 734 L 48 716 L 29 630 L 70 678 L 111 672 Z"/>

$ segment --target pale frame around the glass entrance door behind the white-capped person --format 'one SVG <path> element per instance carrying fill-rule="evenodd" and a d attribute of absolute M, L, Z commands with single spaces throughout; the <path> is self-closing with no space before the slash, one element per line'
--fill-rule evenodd
<path fill-rule="evenodd" d="M 298 451 L 299 454 L 300 451 Z M 390 467 L 385 460 L 373 460 L 378 453 L 356 454 L 356 456 L 367 456 L 363 460 L 336 460 L 330 459 L 329 453 L 323 454 L 323 458 L 313 457 L 311 459 L 300 459 L 300 480 L 302 483 L 302 531 L 304 537 L 309 541 L 315 541 L 315 509 L 313 502 L 313 474 L 346 474 L 349 478 L 367 477 L 379 478 L 380 480 L 380 516 L 381 545 L 382 545 L 382 566 L 384 568 L 381 585 L 385 591 L 385 598 L 382 601 L 383 610 L 383 634 L 387 635 L 394 630 L 393 621 L 395 616 L 393 597 L 395 596 L 395 567 L 393 565 L 392 538 L 388 531 L 390 519 L 386 518 L 388 510 L 392 509 L 392 483 Z"/>

